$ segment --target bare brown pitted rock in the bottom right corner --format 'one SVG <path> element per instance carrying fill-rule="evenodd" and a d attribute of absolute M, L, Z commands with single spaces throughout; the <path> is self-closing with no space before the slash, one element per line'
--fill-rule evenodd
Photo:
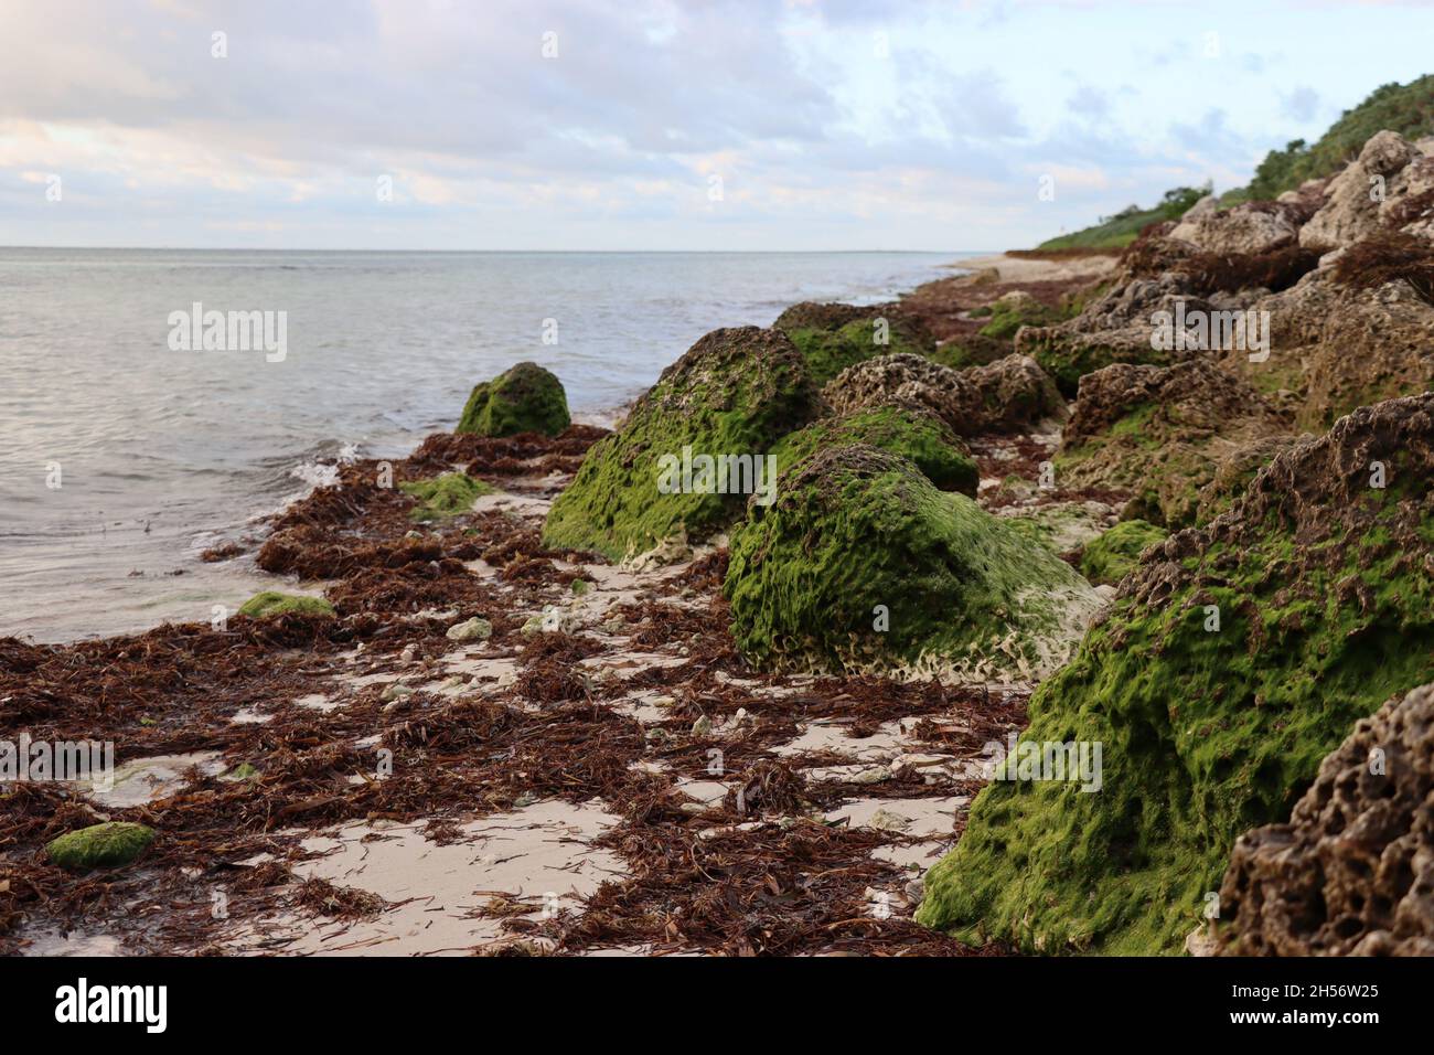
<path fill-rule="evenodd" d="M 1288 822 L 1246 833 L 1220 884 L 1225 956 L 1434 956 L 1434 685 L 1319 765 Z"/>

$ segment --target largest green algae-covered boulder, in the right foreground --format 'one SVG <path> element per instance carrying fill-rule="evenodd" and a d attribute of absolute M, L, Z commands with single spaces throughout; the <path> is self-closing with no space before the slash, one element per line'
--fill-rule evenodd
<path fill-rule="evenodd" d="M 1288 817 L 1358 719 L 1434 675 L 1431 484 L 1434 395 L 1362 408 L 1147 555 L 1017 748 L 1098 744 L 1100 789 L 992 781 L 916 919 L 1030 950 L 1179 952 L 1236 837 Z"/>

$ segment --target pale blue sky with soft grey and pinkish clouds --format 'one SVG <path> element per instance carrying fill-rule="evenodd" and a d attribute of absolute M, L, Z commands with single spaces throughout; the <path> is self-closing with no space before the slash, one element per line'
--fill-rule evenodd
<path fill-rule="evenodd" d="M 0 0 L 0 245 L 1002 250 L 1243 184 L 1431 44 L 1430 3 Z"/>

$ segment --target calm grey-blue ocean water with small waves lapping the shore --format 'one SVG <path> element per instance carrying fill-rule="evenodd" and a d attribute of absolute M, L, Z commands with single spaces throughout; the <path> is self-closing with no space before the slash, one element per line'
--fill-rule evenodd
<path fill-rule="evenodd" d="M 277 580 L 202 550 L 450 429 L 512 363 L 609 425 L 708 330 L 888 300 L 961 255 L 0 248 L 0 637 L 232 611 Z M 194 304 L 282 313 L 282 355 L 182 350 Z"/>

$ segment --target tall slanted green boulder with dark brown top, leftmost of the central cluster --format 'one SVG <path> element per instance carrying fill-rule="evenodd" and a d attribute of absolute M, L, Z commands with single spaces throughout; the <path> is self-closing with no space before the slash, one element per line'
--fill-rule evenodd
<path fill-rule="evenodd" d="M 615 433 L 588 451 L 543 524 L 551 548 L 609 560 L 684 535 L 698 541 L 770 489 L 777 442 L 819 409 L 780 330 L 714 330 L 663 370 Z"/>

